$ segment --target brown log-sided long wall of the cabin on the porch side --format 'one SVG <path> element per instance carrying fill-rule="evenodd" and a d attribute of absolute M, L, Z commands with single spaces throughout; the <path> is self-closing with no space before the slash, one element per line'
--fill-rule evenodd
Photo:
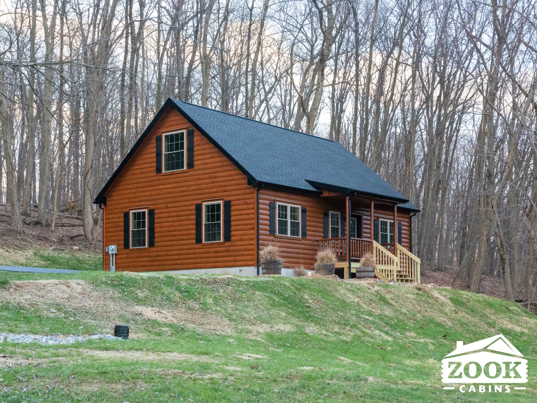
<path fill-rule="evenodd" d="M 289 238 L 270 234 L 270 202 L 278 201 L 306 207 L 306 238 Z M 303 265 L 306 269 L 313 269 L 315 253 L 317 252 L 315 241 L 323 238 L 324 210 L 345 213 L 345 199 L 320 197 L 311 193 L 293 192 L 277 188 L 261 189 L 259 191 L 259 249 L 263 249 L 270 242 L 277 242 L 284 259 L 284 267 L 294 268 Z M 352 202 L 351 213 L 362 215 L 362 238 L 370 239 L 371 202 L 355 197 Z M 374 218 L 393 220 L 393 217 L 393 207 L 382 206 L 381 202 L 375 204 Z M 402 223 L 402 246 L 410 249 L 410 213 L 404 210 L 397 210 L 397 220 Z"/>

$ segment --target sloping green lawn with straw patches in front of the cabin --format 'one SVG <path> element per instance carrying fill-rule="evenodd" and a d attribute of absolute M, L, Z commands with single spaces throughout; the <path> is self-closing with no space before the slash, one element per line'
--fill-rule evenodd
<path fill-rule="evenodd" d="M 37 279 L 84 283 L 56 294 L 37 286 L 28 297 L 13 284 Z M 69 294 L 75 285 L 85 290 L 72 291 L 80 298 Z M 1 343 L 0 355 L 8 358 L 0 358 L 0 401 L 535 401 L 535 315 L 484 295 L 421 288 L 285 277 L 0 272 L 2 332 L 111 333 L 124 323 L 132 335 L 67 347 Z M 140 307 L 159 316 L 144 317 Z M 528 359 L 528 390 L 444 391 L 440 361 L 455 342 L 498 333 Z"/>

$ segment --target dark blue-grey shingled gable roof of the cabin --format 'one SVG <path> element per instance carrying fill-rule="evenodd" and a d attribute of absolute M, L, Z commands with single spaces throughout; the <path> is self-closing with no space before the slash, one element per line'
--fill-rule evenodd
<path fill-rule="evenodd" d="M 177 99 L 168 99 L 157 117 L 168 105 L 175 106 L 252 182 L 305 191 L 332 189 L 377 196 L 404 203 L 400 207 L 408 210 L 419 211 L 412 203 L 408 203 L 408 200 L 393 186 L 375 174 L 337 141 L 295 132 Z M 144 136 L 147 136 L 150 128 L 156 123 L 157 117 L 133 149 L 137 148 Z M 133 150 L 131 152 L 133 153 Z M 128 160 L 129 155 L 121 165 Z M 121 165 L 118 170 L 122 168 Z M 115 172 L 110 178 L 111 181 L 114 176 L 117 176 Z M 99 196 L 104 195 L 108 186 L 107 183 Z"/>

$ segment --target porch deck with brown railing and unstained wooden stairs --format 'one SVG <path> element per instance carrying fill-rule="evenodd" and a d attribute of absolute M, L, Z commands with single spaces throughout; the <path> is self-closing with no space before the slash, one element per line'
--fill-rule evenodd
<path fill-rule="evenodd" d="M 327 238 L 317 240 L 318 249 L 332 249 L 336 254 L 338 263 L 336 267 L 349 268 L 347 261 L 346 238 Z M 420 260 L 400 244 L 380 244 L 371 239 L 350 239 L 351 272 L 359 267 L 360 259 L 368 252 L 372 252 L 376 261 L 375 275 L 384 282 L 419 283 Z M 354 271 L 352 270 L 354 268 Z M 348 275 L 348 272 L 346 272 Z M 346 276 L 345 276 L 346 277 Z"/>

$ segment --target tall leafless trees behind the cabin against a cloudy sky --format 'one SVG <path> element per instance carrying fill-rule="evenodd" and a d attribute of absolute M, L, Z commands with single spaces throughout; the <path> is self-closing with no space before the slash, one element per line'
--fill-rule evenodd
<path fill-rule="evenodd" d="M 91 243 L 93 197 L 175 97 L 342 142 L 422 209 L 423 267 L 531 297 L 536 3 L 8 0 L 1 231 L 76 201 Z"/>

